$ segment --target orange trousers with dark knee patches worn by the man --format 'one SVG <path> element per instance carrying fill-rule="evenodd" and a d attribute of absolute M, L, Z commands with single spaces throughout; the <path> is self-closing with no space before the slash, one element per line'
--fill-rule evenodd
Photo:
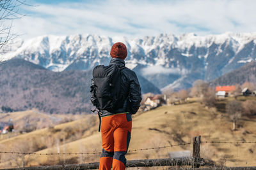
<path fill-rule="evenodd" d="M 102 154 L 100 156 L 100 170 L 125 169 L 127 153 L 132 130 L 130 113 L 116 114 L 102 118 L 101 138 Z"/>

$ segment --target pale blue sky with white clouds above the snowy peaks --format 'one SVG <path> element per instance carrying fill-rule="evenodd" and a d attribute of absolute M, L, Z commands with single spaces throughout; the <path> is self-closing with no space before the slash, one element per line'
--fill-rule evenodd
<path fill-rule="evenodd" d="M 256 1 L 27 0 L 25 17 L 12 32 L 22 38 L 45 34 L 143 37 L 161 33 L 198 35 L 255 32 Z"/>

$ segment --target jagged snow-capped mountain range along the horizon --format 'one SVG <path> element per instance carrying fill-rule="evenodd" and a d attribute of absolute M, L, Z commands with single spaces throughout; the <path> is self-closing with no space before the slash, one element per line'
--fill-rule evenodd
<path fill-rule="evenodd" d="M 108 64 L 113 43 L 127 45 L 126 66 L 159 88 L 188 88 L 197 79 L 213 80 L 256 58 L 256 32 L 196 36 L 160 34 L 144 38 L 96 36 L 40 36 L 23 40 L 2 53 L 29 60 L 52 71 L 90 70 Z"/>

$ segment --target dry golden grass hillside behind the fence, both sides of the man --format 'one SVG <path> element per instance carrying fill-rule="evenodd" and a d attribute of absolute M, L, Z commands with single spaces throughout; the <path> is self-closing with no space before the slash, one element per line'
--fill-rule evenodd
<path fill-rule="evenodd" d="M 254 99 L 254 98 L 253 98 Z M 194 136 L 202 141 L 256 141 L 256 116 L 242 117 L 237 131 L 225 113 L 225 103 L 218 108 L 205 108 L 200 103 L 161 106 L 134 116 L 129 150 L 190 143 Z M 244 100 L 243 97 L 239 100 Z M 20 134 L 0 141 L 0 150 L 35 153 L 88 153 L 101 151 L 97 115 L 86 115 L 73 122 Z M 173 146 L 157 150 L 128 152 L 127 159 L 158 159 L 168 152 L 192 150 L 192 145 Z M 202 143 L 201 157 L 221 166 L 256 166 L 256 143 Z M 0 167 L 72 164 L 99 161 L 95 155 L 4 155 Z"/>

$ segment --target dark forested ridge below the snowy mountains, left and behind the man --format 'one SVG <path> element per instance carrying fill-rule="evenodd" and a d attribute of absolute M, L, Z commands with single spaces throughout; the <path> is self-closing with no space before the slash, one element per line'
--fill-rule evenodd
<path fill-rule="evenodd" d="M 24 59 L 0 63 L 0 108 L 45 113 L 90 113 L 92 71 L 53 72 Z M 143 93 L 161 93 L 138 75 Z"/>

